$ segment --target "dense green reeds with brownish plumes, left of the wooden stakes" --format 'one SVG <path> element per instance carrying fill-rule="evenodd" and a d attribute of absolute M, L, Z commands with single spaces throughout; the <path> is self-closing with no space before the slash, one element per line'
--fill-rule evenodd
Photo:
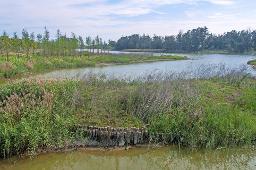
<path fill-rule="evenodd" d="M 42 147 L 63 146 L 76 120 L 62 98 L 71 97 L 75 84 L 31 77 L 1 86 L 0 154 L 35 154 Z"/>

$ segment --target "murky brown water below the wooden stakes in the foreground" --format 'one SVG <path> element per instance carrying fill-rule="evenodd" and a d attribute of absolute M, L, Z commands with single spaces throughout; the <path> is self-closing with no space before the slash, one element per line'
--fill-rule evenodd
<path fill-rule="evenodd" d="M 128 151 L 86 151 L 41 154 L 35 159 L 0 160 L 0 170 L 256 170 L 255 146 L 229 150 L 191 151 L 169 145 Z"/>

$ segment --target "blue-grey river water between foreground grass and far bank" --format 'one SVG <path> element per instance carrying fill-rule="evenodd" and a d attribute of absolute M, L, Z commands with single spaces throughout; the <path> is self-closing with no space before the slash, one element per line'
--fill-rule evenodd
<path fill-rule="evenodd" d="M 120 51 L 110 51 L 117 53 Z M 125 52 L 128 53 L 128 52 Z M 164 53 L 154 53 L 154 55 L 162 55 Z M 169 54 L 170 55 L 170 54 Z M 177 55 L 177 54 L 171 54 Z M 173 71 L 183 72 L 184 70 L 193 70 L 200 65 L 205 64 L 226 64 L 231 68 L 238 68 L 241 65 L 247 65 L 248 60 L 256 59 L 255 55 L 244 54 L 244 55 L 228 55 L 228 54 L 178 54 L 179 56 L 187 56 L 191 60 L 176 60 L 176 61 L 156 61 L 156 62 L 143 62 L 135 64 L 124 64 L 124 65 L 111 65 L 111 66 L 100 66 L 100 67 L 86 67 L 86 68 L 67 68 L 58 70 L 47 70 L 42 72 L 34 73 L 30 76 L 76 76 L 77 74 L 83 75 L 89 72 L 93 73 L 106 73 L 107 75 L 114 75 L 117 77 L 130 76 L 135 78 L 137 76 L 143 76 L 151 71 Z M 247 66 L 248 71 L 256 76 L 256 71 Z M 25 75 L 22 77 L 28 77 Z M 21 77 L 15 77 L 16 79 Z M 0 84 L 4 83 L 5 80 L 0 80 Z"/>

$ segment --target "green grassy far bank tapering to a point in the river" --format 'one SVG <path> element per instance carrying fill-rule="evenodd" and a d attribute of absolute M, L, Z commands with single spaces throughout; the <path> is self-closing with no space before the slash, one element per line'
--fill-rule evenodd
<path fill-rule="evenodd" d="M 116 64 L 129 64 L 137 62 L 165 61 L 165 60 L 183 60 L 187 57 L 180 56 L 150 56 L 148 54 L 110 54 L 102 53 L 99 56 L 85 56 L 84 58 L 73 57 L 51 57 L 46 59 L 35 55 L 35 57 L 26 58 L 25 54 L 9 56 L 10 61 L 0 58 L 0 79 L 22 76 L 43 70 L 60 68 L 78 68 L 92 66 L 107 66 Z"/>

